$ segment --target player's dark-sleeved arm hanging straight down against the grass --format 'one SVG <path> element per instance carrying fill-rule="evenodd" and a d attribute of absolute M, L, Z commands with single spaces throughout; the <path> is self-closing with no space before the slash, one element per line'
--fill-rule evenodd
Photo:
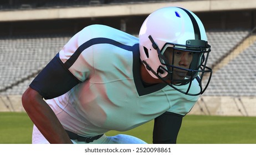
<path fill-rule="evenodd" d="M 153 143 L 174 144 L 181 128 L 183 115 L 165 112 L 155 118 L 153 128 Z"/>

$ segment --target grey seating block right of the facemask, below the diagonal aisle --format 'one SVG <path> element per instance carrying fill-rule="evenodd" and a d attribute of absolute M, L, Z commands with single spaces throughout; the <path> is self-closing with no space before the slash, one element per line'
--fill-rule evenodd
<path fill-rule="evenodd" d="M 205 96 L 255 96 L 256 43 L 213 74 Z"/>

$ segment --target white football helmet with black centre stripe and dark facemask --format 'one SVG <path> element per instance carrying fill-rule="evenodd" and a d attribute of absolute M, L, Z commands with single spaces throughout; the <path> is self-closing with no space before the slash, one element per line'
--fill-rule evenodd
<path fill-rule="evenodd" d="M 203 94 L 206 90 L 212 76 L 212 69 L 206 66 L 211 46 L 208 45 L 201 20 L 193 12 L 179 7 L 165 7 L 151 13 L 140 29 L 139 46 L 140 59 L 152 77 L 163 80 L 187 95 Z M 168 54 L 172 55 L 168 58 L 167 49 Z M 177 51 L 192 55 L 187 68 L 174 63 Z M 185 73 L 186 76 L 178 79 L 175 71 Z M 206 86 L 202 88 L 204 73 L 209 73 L 209 76 Z M 191 83 L 195 78 L 201 91 L 190 94 Z M 177 87 L 187 84 L 186 91 Z"/>

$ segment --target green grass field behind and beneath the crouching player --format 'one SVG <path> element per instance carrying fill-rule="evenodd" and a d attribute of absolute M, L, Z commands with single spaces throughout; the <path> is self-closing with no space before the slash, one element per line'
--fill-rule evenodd
<path fill-rule="evenodd" d="M 31 143 L 32 122 L 26 113 L 0 112 L 0 143 Z M 128 134 L 152 143 L 153 121 L 126 132 L 110 131 L 107 135 Z M 177 143 L 183 144 L 255 144 L 256 117 L 196 116 L 183 118 Z"/>

